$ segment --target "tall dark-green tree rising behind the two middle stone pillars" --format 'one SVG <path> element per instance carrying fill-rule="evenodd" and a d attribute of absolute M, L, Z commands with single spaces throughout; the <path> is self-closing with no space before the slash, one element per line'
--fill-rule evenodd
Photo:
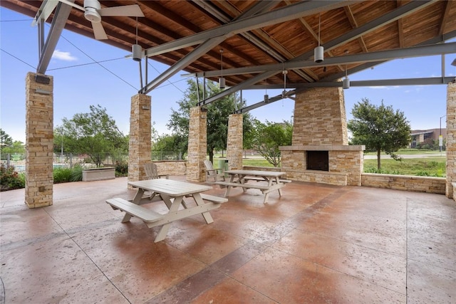
<path fill-rule="evenodd" d="M 175 134 L 185 138 L 186 147 L 188 148 L 188 130 L 190 121 L 190 108 L 195 107 L 199 100 L 203 100 L 203 90 L 193 79 L 187 80 L 189 87 L 185 91 L 185 97 L 178 101 L 178 110 L 171 109 L 171 118 L 167 123 Z M 221 91 L 217 83 L 212 81 L 207 82 L 207 96 L 212 96 Z M 227 148 L 227 131 L 228 131 L 228 116 L 236 109 L 244 105 L 244 101 L 239 103 L 234 95 L 228 95 L 222 99 L 205 105 L 207 109 L 207 153 L 209 160 L 214 162 L 214 150 L 224 150 Z M 244 132 L 249 132 L 252 129 L 251 117 L 249 113 L 244 114 Z"/>

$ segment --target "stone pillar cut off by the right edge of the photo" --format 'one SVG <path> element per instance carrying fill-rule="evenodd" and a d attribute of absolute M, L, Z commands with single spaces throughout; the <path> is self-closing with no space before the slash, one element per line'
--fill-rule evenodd
<path fill-rule="evenodd" d="M 456 83 L 447 86 L 447 183 L 445 195 L 453 196 L 452 183 L 456 182 Z"/>

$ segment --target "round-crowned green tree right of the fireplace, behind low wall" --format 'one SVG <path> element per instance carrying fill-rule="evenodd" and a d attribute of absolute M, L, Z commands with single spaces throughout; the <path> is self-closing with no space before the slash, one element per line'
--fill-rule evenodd
<path fill-rule="evenodd" d="M 367 98 L 353 106 L 353 119 L 347 123 L 353 134 L 353 145 L 366 145 L 366 150 L 377 152 L 377 169 L 380 172 L 380 152 L 400 160 L 394 152 L 407 147 L 410 143 L 410 122 L 403 112 L 393 107 L 372 105 Z"/>

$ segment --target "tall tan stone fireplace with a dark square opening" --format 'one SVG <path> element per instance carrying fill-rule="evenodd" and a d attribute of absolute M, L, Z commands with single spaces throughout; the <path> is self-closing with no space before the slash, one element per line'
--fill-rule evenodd
<path fill-rule="evenodd" d="M 287 178 L 361 186 L 364 149 L 348 145 L 342 88 L 311 88 L 296 95 L 292 144 L 280 147 Z"/>

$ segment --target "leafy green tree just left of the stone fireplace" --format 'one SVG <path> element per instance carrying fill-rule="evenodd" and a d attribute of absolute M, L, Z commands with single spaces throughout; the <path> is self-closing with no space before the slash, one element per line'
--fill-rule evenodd
<path fill-rule="evenodd" d="M 291 145 L 293 125 L 291 122 L 260 122 L 254 120 L 252 147 L 274 167 L 281 164 L 279 146 Z"/>

